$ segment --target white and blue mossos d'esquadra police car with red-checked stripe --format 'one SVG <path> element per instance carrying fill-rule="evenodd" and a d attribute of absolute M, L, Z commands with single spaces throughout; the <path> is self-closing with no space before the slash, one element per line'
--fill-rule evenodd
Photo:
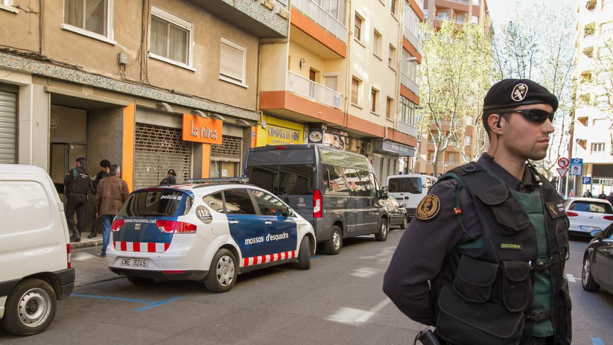
<path fill-rule="evenodd" d="M 262 188 L 218 181 L 132 192 L 112 223 L 109 269 L 136 285 L 195 280 L 227 292 L 238 273 L 292 261 L 310 268 L 310 223 Z"/>

